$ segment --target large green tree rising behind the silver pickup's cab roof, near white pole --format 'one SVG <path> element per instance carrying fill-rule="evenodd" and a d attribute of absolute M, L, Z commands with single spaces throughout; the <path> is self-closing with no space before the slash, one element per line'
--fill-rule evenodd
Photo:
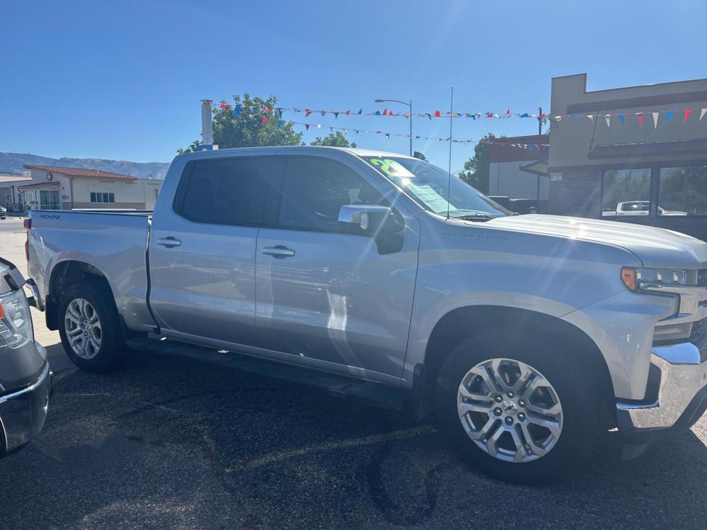
<path fill-rule="evenodd" d="M 222 105 L 228 105 L 222 102 Z M 277 98 L 267 100 L 251 98 L 250 94 L 233 96 L 233 103 L 226 108 L 216 105 L 214 109 L 214 143 L 219 148 L 256 146 L 302 146 L 302 133 L 293 130 L 293 122 L 279 116 Z M 238 112 L 240 110 L 240 112 Z M 238 115 L 236 115 L 238 114 Z M 280 126 L 278 126 L 278 121 Z M 193 141 L 177 153 L 197 151 L 200 141 Z"/>

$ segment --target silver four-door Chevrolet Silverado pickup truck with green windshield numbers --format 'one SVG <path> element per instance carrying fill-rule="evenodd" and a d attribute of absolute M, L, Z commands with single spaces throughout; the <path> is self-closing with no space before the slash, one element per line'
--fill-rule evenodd
<path fill-rule="evenodd" d="M 189 153 L 153 212 L 30 218 L 39 305 L 85 370 L 129 347 L 221 351 L 436 413 L 464 457 L 511 481 L 573 468 L 602 430 L 636 447 L 707 406 L 707 243 L 515 216 L 416 158 Z"/>

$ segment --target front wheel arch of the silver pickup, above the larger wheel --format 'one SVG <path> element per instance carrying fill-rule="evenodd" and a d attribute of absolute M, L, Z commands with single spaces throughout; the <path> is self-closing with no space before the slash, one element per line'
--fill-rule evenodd
<path fill-rule="evenodd" d="M 414 415 L 422 419 L 434 410 L 437 377 L 449 351 L 474 331 L 496 329 L 498 333 L 513 330 L 514 334 L 552 336 L 566 344 L 596 374 L 602 396 L 602 421 L 615 422 L 614 387 L 609 367 L 600 348 L 582 329 L 559 317 L 537 311 L 496 305 L 457 307 L 435 324 L 425 349 L 423 363 L 414 369 Z"/>

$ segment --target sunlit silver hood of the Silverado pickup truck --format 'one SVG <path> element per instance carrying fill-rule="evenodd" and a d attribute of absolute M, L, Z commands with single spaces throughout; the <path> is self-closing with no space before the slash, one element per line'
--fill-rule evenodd
<path fill-rule="evenodd" d="M 501 230 L 566 237 L 622 247 L 635 254 L 646 267 L 707 268 L 706 242 L 664 228 L 544 214 L 501 217 L 488 223 Z"/>

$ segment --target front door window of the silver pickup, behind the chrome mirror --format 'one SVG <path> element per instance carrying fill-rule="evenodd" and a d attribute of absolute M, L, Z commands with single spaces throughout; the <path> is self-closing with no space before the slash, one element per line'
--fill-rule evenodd
<path fill-rule="evenodd" d="M 278 224 L 304 230 L 343 230 L 344 204 L 382 204 L 376 189 L 344 164 L 317 157 L 292 157 L 285 165 Z"/>

